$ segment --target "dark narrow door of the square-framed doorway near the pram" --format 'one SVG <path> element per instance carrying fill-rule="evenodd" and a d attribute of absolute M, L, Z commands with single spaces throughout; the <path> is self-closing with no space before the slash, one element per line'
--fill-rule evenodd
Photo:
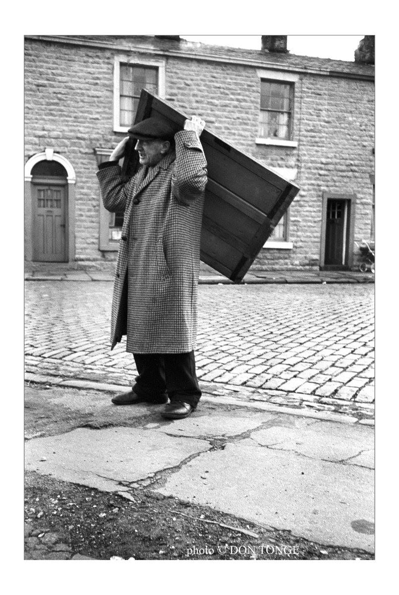
<path fill-rule="evenodd" d="M 345 201 L 328 199 L 324 260 L 326 265 L 344 264 L 345 215 Z"/>

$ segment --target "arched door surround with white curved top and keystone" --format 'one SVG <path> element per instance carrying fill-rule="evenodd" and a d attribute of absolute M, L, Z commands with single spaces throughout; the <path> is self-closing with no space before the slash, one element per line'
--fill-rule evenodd
<path fill-rule="evenodd" d="M 37 153 L 28 159 L 25 164 L 25 203 L 24 203 L 24 234 L 25 234 L 25 260 L 33 261 L 33 183 L 32 168 L 39 161 L 57 161 L 64 166 L 67 171 L 66 177 L 66 196 L 67 201 L 65 209 L 65 242 L 67 243 L 68 262 L 75 260 L 75 183 L 76 174 L 74 168 L 64 156 L 54 152 L 54 149 L 46 148 L 43 152 Z M 51 177 L 48 178 L 51 182 Z"/>

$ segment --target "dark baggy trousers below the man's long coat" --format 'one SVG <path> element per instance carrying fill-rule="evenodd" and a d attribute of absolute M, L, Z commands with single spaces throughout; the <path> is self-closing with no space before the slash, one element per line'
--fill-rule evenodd
<path fill-rule="evenodd" d="M 133 387 L 137 394 L 156 397 L 167 393 L 171 401 L 184 401 L 193 407 L 201 391 L 196 375 L 194 352 L 133 353 L 137 372 Z"/>

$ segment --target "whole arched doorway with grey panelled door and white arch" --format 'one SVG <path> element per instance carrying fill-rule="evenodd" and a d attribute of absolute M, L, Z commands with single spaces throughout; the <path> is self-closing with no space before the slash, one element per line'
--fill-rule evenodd
<path fill-rule="evenodd" d="M 73 260 L 75 174 L 71 164 L 45 149 L 27 162 L 25 180 L 26 259 Z"/>

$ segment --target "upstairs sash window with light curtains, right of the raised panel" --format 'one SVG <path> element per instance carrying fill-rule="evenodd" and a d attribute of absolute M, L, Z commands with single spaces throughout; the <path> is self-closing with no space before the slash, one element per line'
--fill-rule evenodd
<path fill-rule="evenodd" d="M 260 81 L 259 136 L 291 140 L 293 86 L 290 83 Z"/>

